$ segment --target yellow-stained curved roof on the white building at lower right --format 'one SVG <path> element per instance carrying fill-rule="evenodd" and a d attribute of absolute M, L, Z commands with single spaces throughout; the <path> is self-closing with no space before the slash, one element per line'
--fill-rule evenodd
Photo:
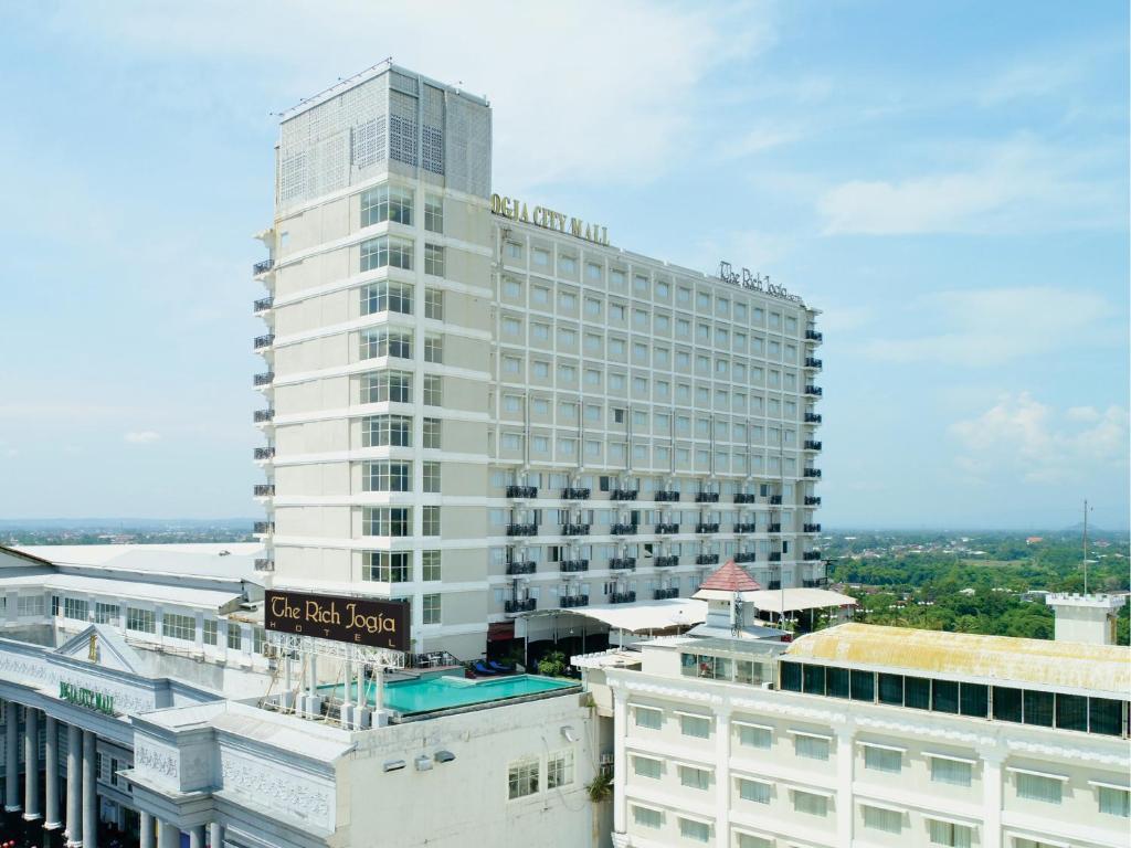
<path fill-rule="evenodd" d="M 784 658 L 1131 696 L 1131 648 L 1114 644 L 852 623 L 801 637 Z"/>

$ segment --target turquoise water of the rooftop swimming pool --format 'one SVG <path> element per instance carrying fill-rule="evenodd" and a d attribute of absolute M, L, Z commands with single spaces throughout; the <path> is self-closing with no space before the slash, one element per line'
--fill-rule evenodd
<path fill-rule="evenodd" d="M 441 677 L 424 677 L 417 681 L 400 681 L 385 684 L 385 706 L 403 715 L 413 712 L 434 712 L 452 707 L 467 707 L 473 703 L 501 701 L 508 698 L 551 692 L 556 689 L 569 689 L 577 684 L 572 681 L 559 681 L 552 677 L 539 677 L 533 674 L 516 674 L 509 677 L 489 677 L 469 681 L 456 675 Z M 321 692 L 334 698 L 342 698 L 344 686 L 320 686 Z M 365 683 L 365 700 L 373 703 L 377 684 Z M 349 699 L 356 703 L 357 684 L 349 686 Z"/>

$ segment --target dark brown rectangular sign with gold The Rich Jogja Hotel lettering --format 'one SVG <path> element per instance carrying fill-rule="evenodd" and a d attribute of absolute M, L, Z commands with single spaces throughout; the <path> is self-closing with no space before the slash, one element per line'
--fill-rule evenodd
<path fill-rule="evenodd" d="M 408 604 L 403 600 L 268 590 L 264 612 L 267 630 L 408 650 Z"/>

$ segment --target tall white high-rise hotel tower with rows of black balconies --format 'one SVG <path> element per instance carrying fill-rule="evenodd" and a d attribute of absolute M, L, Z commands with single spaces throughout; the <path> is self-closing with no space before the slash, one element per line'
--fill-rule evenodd
<path fill-rule="evenodd" d="M 412 602 L 416 651 L 532 611 L 818 586 L 798 297 L 492 194 L 486 101 L 381 64 L 283 116 L 256 266 L 276 586 Z M 518 635 L 525 632 L 518 626 Z"/>

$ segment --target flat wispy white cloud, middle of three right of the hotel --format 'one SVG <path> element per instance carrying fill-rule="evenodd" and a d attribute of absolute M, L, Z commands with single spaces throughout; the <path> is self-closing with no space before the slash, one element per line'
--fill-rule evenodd
<path fill-rule="evenodd" d="M 999 366 L 1004 362 L 1107 339 L 1114 314 L 1099 295 L 1052 287 L 940 292 L 912 301 L 898 322 L 915 335 L 878 338 L 863 355 L 884 362 Z"/>

